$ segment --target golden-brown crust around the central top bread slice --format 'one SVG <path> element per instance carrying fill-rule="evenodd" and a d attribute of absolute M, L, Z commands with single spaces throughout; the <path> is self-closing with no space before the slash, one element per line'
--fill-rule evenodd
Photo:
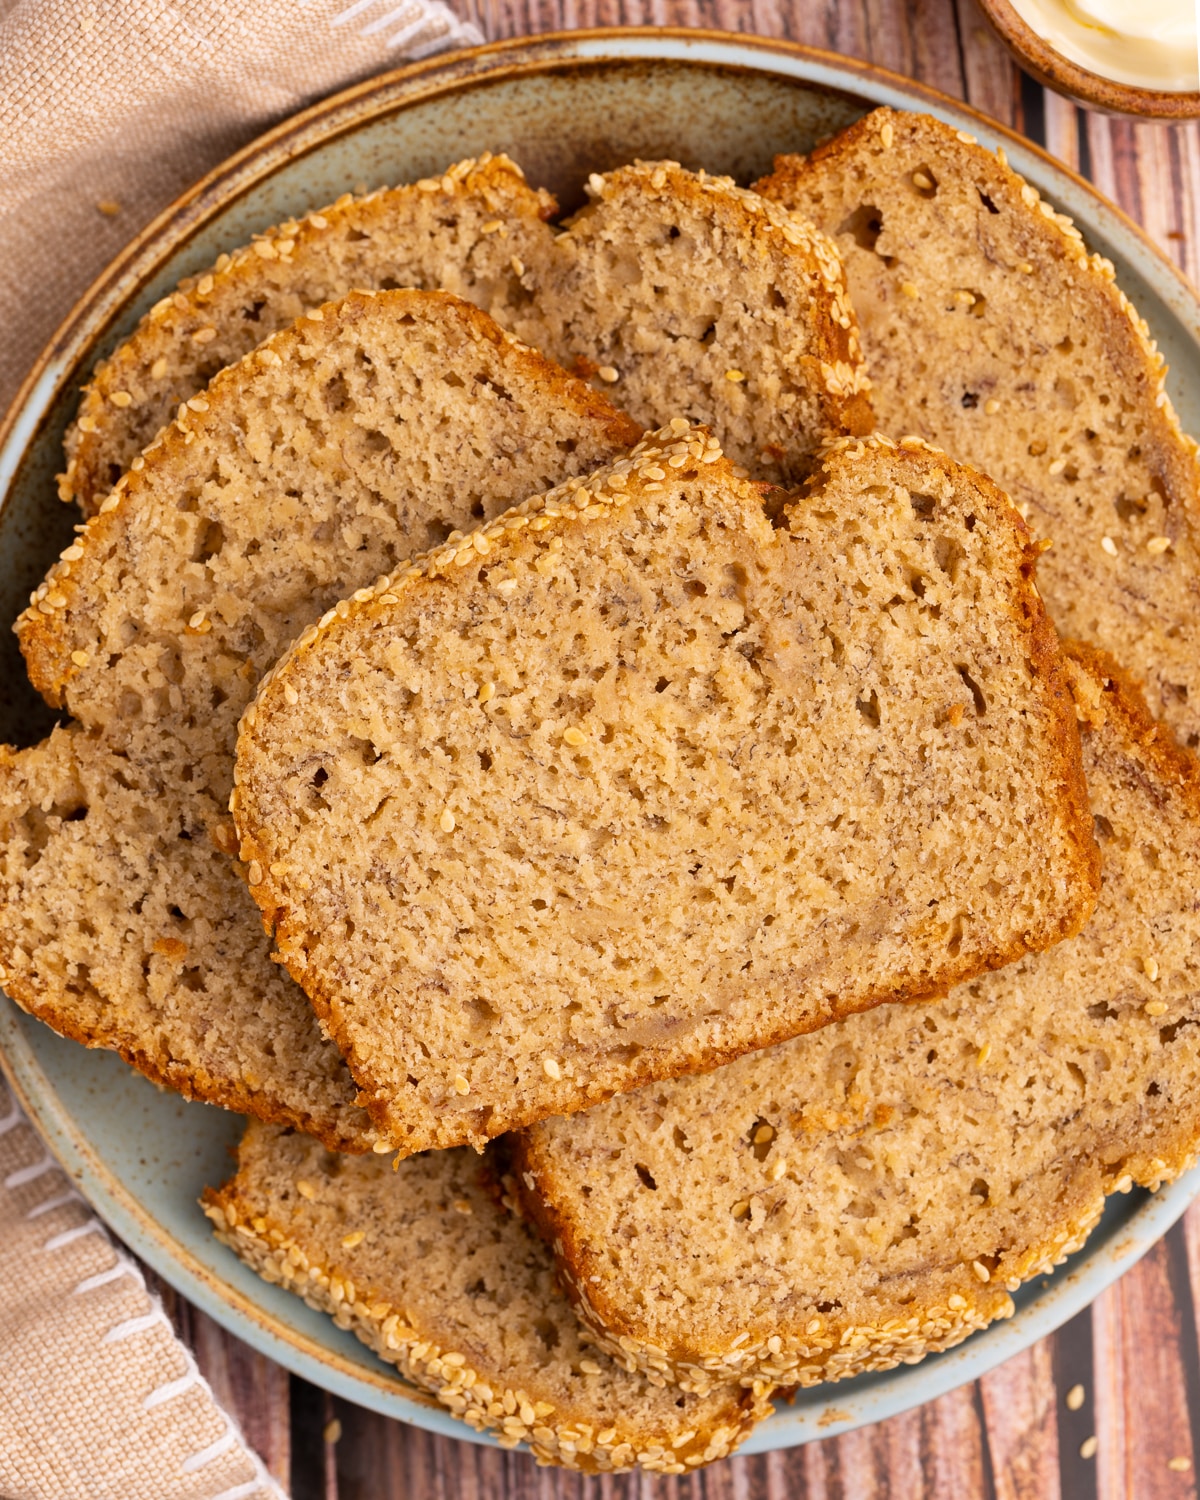
<path fill-rule="evenodd" d="M 694 435 L 694 430 L 696 429 L 692 429 L 692 435 Z M 668 452 L 660 447 L 646 454 L 646 450 L 652 448 L 656 442 L 669 444 L 672 440 L 678 438 L 680 434 L 687 435 L 687 423 L 681 422 L 678 429 L 663 429 L 658 434 L 646 435 L 644 444 L 634 450 L 628 464 L 622 465 L 627 466 L 630 472 L 627 480 L 621 484 L 621 502 L 624 502 L 624 498 L 628 495 L 636 494 L 636 483 L 640 477 L 638 465 L 646 465 L 651 460 L 657 462 L 662 453 Z M 682 453 L 686 448 L 687 441 L 681 444 L 680 452 Z M 728 1046 L 706 1044 L 700 1052 L 693 1047 L 692 1050 L 680 1048 L 670 1054 L 664 1053 L 663 1048 L 645 1047 L 636 1060 L 627 1065 L 628 1072 L 622 1077 L 620 1089 L 590 1083 L 588 1092 L 584 1095 L 572 1078 L 562 1077 L 555 1084 L 546 1084 L 544 1104 L 536 1113 L 531 1113 L 525 1106 L 518 1107 L 513 1101 L 489 1101 L 488 1110 L 480 1112 L 482 1119 L 478 1125 L 478 1130 L 486 1137 L 495 1137 L 504 1131 L 528 1126 L 537 1119 L 544 1119 L 554 1114 L 570 1114 L 580 1108 L 594 1107 L 603 1100 L 612 1098 L 615 1092 L 628 1092 L 630 1089 L 642 1088 L 648 1083 L 684 1074 L 710 1072 L 728 1062 L 732 1062 L 750 1048 L 758 1050 L 776 1046 L 777 1042 L 786 1041 L 792 1036 L 802 1035 L 807 1030 L 816 1030 L 820 1026 L 828 1024 L 830 1020 L 867 1011 L 876 1005 L 940 998 L 952 986 L 974 978 L 982 970 L 1002 968 L 1030 950 L 1041 950 L 1059 942 L 1064 938 L 1072 936 L 1080 930 L 1095 908 L 1100 890 L 1100 854 L 1090 836 L 1092 818 L 1088 804 L 1086 783 L 1083 778 L 1078 730 L 1076 728 L 1074 711 L 1071 708 L 1070 692 L 1064 675 L 1058 636 L 1054 634 L 1053 626 L 1046 615 L 1041 598 L 1034 585 L 1034 567 L 1040 549 L 1035 543 L 1032 543 L 1028 526 L 998 486 L 994 486 L 984 476 L 978 476 L 974 471 L 963 471 L 962 465 L 956 465 L 946 458 L 946 454 L 936 448 L 930 448 L 916 438 L 903 440 L 900 444 L 894 444 L 880 435 L 873 435 L 866 440 L 838 440 L 826 450 L 822 468 L 813 478 L 812 488 L 818 488 L 822 483 L 822 476 L 831 468 L 844 462 L 854 462 L 858 454 L 878 450 L 886 450 L 903 466 L 924 470 L 926 474 L 930 468 L 933 468 L 944 476 L 964 474 L 969 477 L 978 494 L 980 506 L 992 512 L 1002 526 L 1012 531 L 1023 550 L 1023 564 L 1018 582 L 1018 609 L 1014 615 L 1014 624 L 1017 627 L 1017 633 L 1029 642 L 1030 674 L 1040 678 L 1044 684 L 1047 704 L 1050 705 L 1050 716 L 1053 722 L 1050 740 L 1058 766 L 1056 771 L 1048 771 L 1047 776 L 1053 782 L 1052 800 L 1056 806 L 1064 808 L 1064 820 L 1071 830 L 1070 840 L 1074 849 L 1071 858 L 1074 868 L 1074 888 L 1071 891 L 1070 903 L 1059 910 L 1058 920 L 1048 924 L 1046 934 L 1036 934 L 1036 938 L 1026 934 L 1024 940 L 1014 939 L 1012 942 L 996 946 L 982 958 L 976 954 L 963 956 L 962 958 L 950 957 L 946 954 L 942 957 L 942 966 L 933 978 L 910 976 L 908 981 L 902 980 L 900 982 L 873 990 L 855 1004 L 842 1002 L 834 1006 L 832 1014 L 820 1016 L 810 1022 L 796 1023 L 795 1017 L 778 1017 L 774 1024 L 765 1024 L 752 1042 L 742 1040 L 730 1041 Z M 714 458 L 717 458 L 732 476 L 732 471 L 728 470 L 728 462 L 720 459 L 718 453 L 714 454 Z M 706 465 L 708 462 L 712 462 L 712 459 L 705 459 L 704 462 Z M 684 477 L 687 476 L 688 468 L 678 468 L 676 472 Z M 574 489 L 582 483 L 584 482 L 572 482 L 568 488 Z M 596 476 L 586 483 L 594 486 L 598 494 L 603 478 Z M 486 540 L 489 555 L 495 554 L 500 556 L 502 555 L 506 542 L 512 544 L 513 538 L 519 537 L 526 525 L 532 524 L 538 531 L 552 530 L 561 534 L 585 525 L 586 520 L 592 518 L 592 513 L 598 516 L 603 512 L 604 504 L 597 501 L 580 514 L 574 506 L 568 502 L 567 488 L 561 492 L 552 492 L 548 496 L 536 496 L 525 506 L 514 507 L 514 510 L 508 512 L 506 516 L 498 518 L 489 526 L 480 528 L 480 532 L 465 537 L 460 542 L 450 543 L 444 549 L 428 554 L 426 558 L 411 564 L 399 574 L 380 579 L 374 590 L 362 590 L 352 600 L 344 602 L 344 604 L 334 610 L 328 610 L 316 626 L 309 627 L 309 630 L 306 630 L 300 639 L 294 642 L 288 654 L 276 663 L 272 672 L 267 674 L 260 684 L 256 699 L 246 710 L 242 718 L 238 735 L 238 765 L 243 765 L 243 758 L 249 759 L 254 754 L 256 726 L 260 723 L 270 723 L 273 704 L 278 699 L 282 702 L 288 700 L 285 694 L 291 690 L 288 684 L 290 675 L 294 669 L 297 669 L 298 663 L 318 648 L 318 644 L 324 636 L 358 628 L 366 620 L 386 622 L 392 616 L 394 606 L 399 603 L 402 592 L 420 590 L 424 594 L 435 597 L 436 591 L 444 586 L 442 580 L 456 568 L 456 560 L 460 556 L 477 555 L 474 550 L 474 536 L 480 536 Z M 238 780 L 244 782 L 244 777 L 240 774 Z M 376 1126 L 381 1132 L 390 1134 L 396 1148 L 405 1154 L 411 1150 L 422 1150 L 429 1146 L 450 1148 L 460 1144 L 464 1140 L 476 1140 L 471 1128 L 464 1125 L 462 1116 L 456 1119 L 440 1119 L 428 1137 L 420 1134 L 416 1138 L 398 1138 L 394 1104 L 390 1089 L 382 1076 L 375 1066 L 372 1066 L 369 1056 L 364 1056 L 357 1046 L 354 1030 L 348 1024 L 336 993 L 328 986 L 322 974 L 309 964 L 306 948 L 308 932 L 303 915 L 294 909 L 288 891 L 274 874 L 279 852 L 270 840 L 268 830 L 264 830 L 264 837 L 260 837 L 260 830 L 256 830 L 254 822 L 255 814 L 248 808 L 244 786 L 237 786 L 234 789 L 230 807 L 242 840 L 240 854 L 243 866 L 250 870 L 250 894 L 264 914 L 264 926 L 267 932 L 274 932 L 279 960 L 286 966 L 288 972 L 302 986 L 302 988 L 304 988 L 328 1035 L 334 1038 L 342 1054 L 346 1058 L 351 1072 L 363 1090 L 363 1104 L 372 1114 Z"/>

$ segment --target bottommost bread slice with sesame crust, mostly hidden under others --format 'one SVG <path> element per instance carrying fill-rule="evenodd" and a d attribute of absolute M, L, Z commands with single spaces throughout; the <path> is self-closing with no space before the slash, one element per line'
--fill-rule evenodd
<path fill-rule="evenodd" d="M 330 1312 L 476 1431 L 586 1473 L 682 1474 L 730 1454 L 770 1410 L 735 1386 L 693 1396 L 584 1341 L 549 1252 L 472 1150 L 333 1156 L 252 1124 L 237 1176 L 207 1191 L 218 1238 Z"/>

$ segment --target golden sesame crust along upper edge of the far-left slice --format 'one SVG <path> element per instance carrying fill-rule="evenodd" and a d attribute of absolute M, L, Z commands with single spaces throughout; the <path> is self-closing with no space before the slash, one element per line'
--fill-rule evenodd
<path fill-rule="evenodd" d="M 416 298 L 417 304 L 423 306 L 441 303 L 453 308 L 458 316 L 468 324 L 474 338 L 496 348 L 504 346 L 508 357 L 519 369 L 524 368 L 530 380 L 554 388 L 556 399 L 566 406 L 573 406 L 580 418 L 606 426 L 614 447 L 628 447 L 640 436 L 638 424 L 618 411 L 606 396 L 592 390 L 585 381 L 566 375 L 558 364 L 544 358 L 537 350 L 531 350 L 512 334 L 504 333 L 486 312 L 452 292 L 351 292 L 339 302 L 327 303 L 321 309 L 321 316 L 330 322 L 340 320 L 345 326 L 352 326 L 376 297 L 388 298 L 398 318 L 404 316 L 404 303 L 408 298 Z M 180 410 L 176 422 L 159 434 L 144 454 L 144 458 L 150 453 L 154 454 L 156 471 L 160 472 L 177 458 L 183 459 L 186 448 L 198 435 L 219 432 L 234 420 L 244 372 L 254 369 L 255 362 L 285 362 L 292 346 L 304 339 L 303 322 L 304 320 L 292 328 L 276 333 L 237 364 L 226 366 L 208 384 L 202 399 L 196 398 L 192 406 Z M 66 705 L 68 687 L 78 670 L 76 663 L 72 662 L 72 616 L 76 610 L 86 615 L 98 604 L 88 594 L 90 566 L 93 560 L 99 564 L 106 549 L 117 544 L 126 513 L 136 507 L 138 498 L 146 489 L 142 462 L 135 460 L 99 512 L 46 573 L 45 580 L 38 585 L 28 608 L 16 620 L 14 628 L 26 657 L 30 681 L 54 708 Z"/>

